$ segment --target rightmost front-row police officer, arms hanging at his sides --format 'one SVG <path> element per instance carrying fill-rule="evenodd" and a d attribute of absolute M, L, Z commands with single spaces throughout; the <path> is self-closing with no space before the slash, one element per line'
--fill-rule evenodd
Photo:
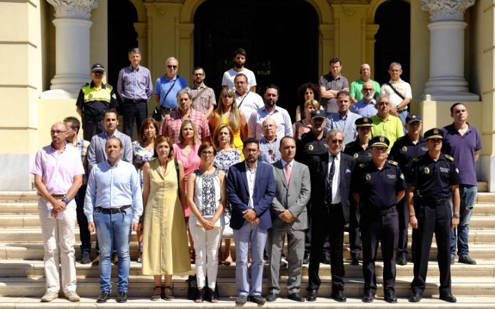
<path fill-rule="evenodd" d="M 450 288 L 450 228 L 459 225 L 459 170 L 454 158 L 441 153 L 441 129 L 432 128 L 426 131 L 424 138 L 428 152 L 414 159 L 412 170 L 408 174 L 407 202 L 414 263 L 412 295 L 409 301 L 418 302 L 423 297 L 434 233 L 440 270 L 440 299 L 454 303 L 456 298 Z M 450 201 L 454 204 L 453 215 Z"/>

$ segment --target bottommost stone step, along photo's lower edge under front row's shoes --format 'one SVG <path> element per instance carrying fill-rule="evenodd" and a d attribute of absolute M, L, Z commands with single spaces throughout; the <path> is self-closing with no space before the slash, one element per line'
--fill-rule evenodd
<path fill-rule="evenodd" d="M 190 308 L 215 308 L 226 309 L 236 307 L 234 301 L 236 297 L 220 297 L 220 301 L 217 304 L 203 303 L 195 304 L 185 297 L 176 297 L 173 301 L 151 301 L 148 300 L 148 296 L 142 295 L 141 297 L 129 297 L 129 301 L 126 303 L 117 303 L 115 301 L 115 295 L 110 299 L 107 304 L 96 304 L 96 297 L 98 295 L 91 295 L 91 297 L 82 297 L 81 301 L 77 304 L 70 303 L 63 298 L 61 294 L 59 299 L 52 301 L 51 303 L 40 303 L 41 295 L 33 297 L 0 297 L 1 308 L 108 308 L 108 309 L 130 309 L 130 308 L 170 308 L 170 309 L 190 309 Z M 399 297 L 397 304 L 388 304 L 384 301 L 383 297 L 376 297 L 375 301 L 371 304 L 366 304 L 358 297 L 348 298 L 346 303 L 338 303 L 329 298 L 318 297 L 314 302 L 305 301 L 300 304 L 296 301 L 289 300 L 287 298 L 278 298 L 272 303 L 266 303 L 263 308 L 283 308 L 283 309 L 321 309 L 321 308 L 353 308 L 353 309 L 383 309 L 386 308 L 421 308 L 421 309 L 439 309 L 439 308 L 493 308 L 492 297 L 463 297 L 457 296 L 457 303 L 450 304 L 445 301 L 441 301 L 437 296 L 434 298 L 426 297 L 421 299 L 420 304 L 408 303 L 407 297 Z M 248 302 L 243 308 L 261 308 L 260 306 Z"/>

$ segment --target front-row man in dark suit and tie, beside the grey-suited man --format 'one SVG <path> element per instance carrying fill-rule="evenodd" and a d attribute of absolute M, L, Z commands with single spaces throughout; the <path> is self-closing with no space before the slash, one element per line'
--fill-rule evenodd
<path fill-rule="evenodd" d="M 311 171 L 311 257 L 309 258 L 308 301 L 316 301 L 321 280 L 320 252 L 329 237 L 332 294 L 336 301 L 346 301 L 344 296 L 344 225 L 349 220 L 349 188 L 354 170 L 353 157 L 340 152 L 344 133 L 330 130 L 327 133 L 329 155 L 318 164 L 309 166 Z"/>

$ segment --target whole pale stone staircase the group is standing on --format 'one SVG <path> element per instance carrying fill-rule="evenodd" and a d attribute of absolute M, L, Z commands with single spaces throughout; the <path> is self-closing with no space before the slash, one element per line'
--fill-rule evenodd
<path fill-rule="evenodd" d="M 480 187 L 483 190 L 483 187 Z M 45 278 L 43 269 L 43 242 L 39 218 L 37 214 L 37 197 L 35 192 L 0 192 L 0 308 L 96 308 L 102 306 L 95 300 L 100 293 L 98 266 L 81 265 L 76 263 L 78 273 L 78 294 L 83 300 L 78 304 L 69 303 L 65 299 L 57 299 L 50 304 L 39 302 L 45 292 Z M 288 299 L 278 299 L 274 303 L 267 303 L 268 308 L 380 308 L 390 306 L 395 308 L 495 308 L 495 194 L 479 193 L 471 220 L 470 254 L 478 264 L 452 265 L 452 292 L 457 297 L 456 304 L 448 304 L 438 299 L 439 271 L 436 262 L 436 243 L 433 239 L 428 267 L 428 282 L 424 298 L 420 304 L 408 303 L 410 282 L 412 280 L 412 264 L 397 266 L 396 293 L 399 303 L 395 305 L 383 301 L 381 276 L 383 263 L 377 262 L 377 279 L 379 288 L 377 299 L 372 304 L 364 304 L 362 297 L 362 266 L 349 265 L 348 236 L 344 238 L 344 259 L 346 267 L 345 294 L 347 303 L 340 304 L 330 299 L 331 275 L 330 266 L 322 264 L 320 276 L 322 286 L 318 292 L 318 301 L 302 304 Z M 94 236 L 92 236 L 94 237 Z M 78 240 L 78 229 L 76 229 Z M 379 258 L 381 253 L 378 253 Z M 80 250 L 76 246 L 76 256 L 79 259 Z M 131 238 L 131 259 L 137 258 L 137 240 L 135 234 Z M 303 284 L 301 292 L 305 294 L 307 286 L 307 265 L 303 268 Z M 265 275 L 267 265 L 265 265 Z M 281 271 L 282 297 L 287 295 L 285 284 L 287 271 Z M 116 277 L 116 268 L 113 266 L 112 278 Z M 194 304 L 186 299 L 186 277 L 173 277 L 173 288 L 177 299 L 174 301 L 149 301 L 153 291 L 153 277 L 141 273 L 141 264 L 131 262 L 129 278 L 129 301 L 118 304 L 114 300 L 104 304 L 105 308 L 232 308 L 235 306 L 235 266 L 219 266 L 219 293 L 221 301 L 218 304 Z M 113 280 L 113 282 L 115 282 Z M 269 288 L 267 280 L 263 282 L 263 293 Z M 62 295 L 61 295 L 62 296 Z M 103 307 L 103 306 L 102 306 Z M 246 304 L 246 308 L 254 308 L 255 304 Z"/>

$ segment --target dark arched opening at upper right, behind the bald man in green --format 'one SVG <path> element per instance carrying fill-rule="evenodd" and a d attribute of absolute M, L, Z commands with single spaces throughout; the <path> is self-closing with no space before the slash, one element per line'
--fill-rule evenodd
<path fill-rule="evenodd" d="M 388 65 L 402 65 L 401 78 L 410 81 L 410 5 L 404 0 L 388 0 L 375 13 L 379 25 L 375 35 L 375 80 L 388 82 Z"/>

